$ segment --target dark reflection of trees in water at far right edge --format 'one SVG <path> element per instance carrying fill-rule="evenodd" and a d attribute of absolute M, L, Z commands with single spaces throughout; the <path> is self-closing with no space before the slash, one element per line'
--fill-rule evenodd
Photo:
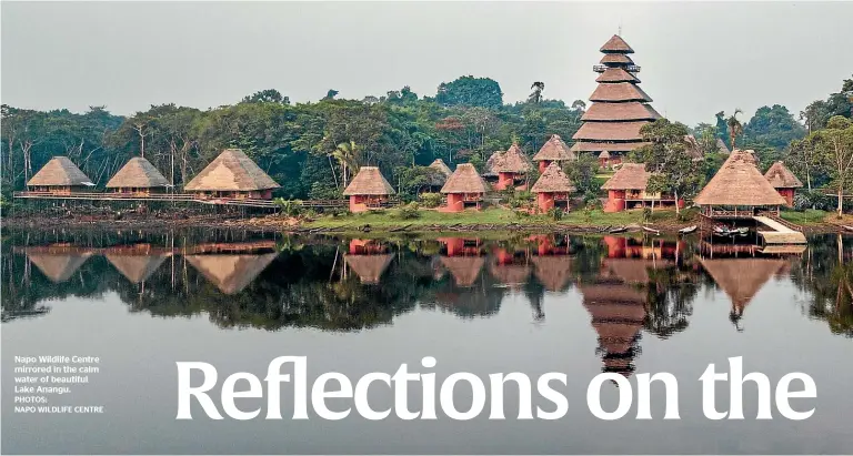
<path fill-rule="evenodd" d="M 825 321 L 834 334 L 853 337 L 853 240 L 840 234 L 810 239 L 791 275 L 809 295 L 809 316 Z"/>

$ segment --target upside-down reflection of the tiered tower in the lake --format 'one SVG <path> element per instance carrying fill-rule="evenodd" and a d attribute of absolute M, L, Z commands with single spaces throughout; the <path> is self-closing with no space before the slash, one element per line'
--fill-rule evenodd
<path fill-rule="evenodd" d="M 645 318 L 645 296 L 626 284 L 596 283 L 582 285 L 583 305 L 592 315 L 592 327 L 599 334 L 596 353 L 604 364 L 602 372 L 630 376 L 638 342 Z"/>

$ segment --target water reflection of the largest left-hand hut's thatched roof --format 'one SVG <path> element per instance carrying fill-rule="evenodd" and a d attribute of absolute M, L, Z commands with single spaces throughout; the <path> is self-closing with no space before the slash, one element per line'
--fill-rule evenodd
<path fill-rule="evenodd" d="M 187 255 L 187 261 L 224 294 L 239 293 L 275 260 L 275 253 Z"/>

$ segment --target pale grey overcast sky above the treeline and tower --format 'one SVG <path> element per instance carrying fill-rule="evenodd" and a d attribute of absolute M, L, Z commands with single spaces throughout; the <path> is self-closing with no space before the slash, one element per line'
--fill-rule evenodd
<path fill-rule="evenodd" d="M 2 102 L 119 114 L 209 108 L 274 88 L 294 102 L 489 77 L 504 102 L 586 100 L 622 27 L 653 105 L 689 124 L 781 103 L 799 113 L 853 73 L 853 2 L 10 3 Z"/>

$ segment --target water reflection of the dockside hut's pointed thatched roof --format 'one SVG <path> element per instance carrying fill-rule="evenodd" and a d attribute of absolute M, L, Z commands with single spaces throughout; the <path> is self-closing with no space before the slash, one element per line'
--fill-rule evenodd
<path fill-rule="evenodd" d="M 785 266 L 781 259 L 700 259 L 700 263 L 741 311 Z"/>

